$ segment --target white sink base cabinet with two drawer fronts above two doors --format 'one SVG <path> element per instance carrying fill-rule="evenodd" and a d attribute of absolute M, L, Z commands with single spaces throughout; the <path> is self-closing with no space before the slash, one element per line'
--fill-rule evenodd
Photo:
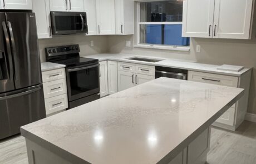
<path fill-rule="evenodd" d="M 123 91 L 133 86 L 141 85 L 142 83 L 155 79 L 154 66 L 125 62 L 118 62 L 117 66 L 118 91 Z"/>

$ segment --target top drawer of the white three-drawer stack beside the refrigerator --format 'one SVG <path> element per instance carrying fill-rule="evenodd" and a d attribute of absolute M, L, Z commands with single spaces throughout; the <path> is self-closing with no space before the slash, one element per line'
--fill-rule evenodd
<path fill-rule="evenodd" d="M 43 82 L 66 78 L 65 68 L 42 72 Z"/>

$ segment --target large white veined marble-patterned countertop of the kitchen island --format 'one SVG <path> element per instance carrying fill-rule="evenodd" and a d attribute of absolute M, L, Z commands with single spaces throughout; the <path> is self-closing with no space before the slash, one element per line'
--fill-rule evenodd
<path fill-rule="evenodd" d="M 73 163 L 157 163 L 177 155 L 242 95 L 241 88 L 161 77 L 33 122 L 21 133 Z"/>

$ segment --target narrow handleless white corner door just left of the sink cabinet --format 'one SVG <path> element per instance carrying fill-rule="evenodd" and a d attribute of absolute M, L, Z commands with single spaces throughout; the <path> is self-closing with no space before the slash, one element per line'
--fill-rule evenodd
<path fill-rule="evenodd" d="M 107 61 L 107 80 L 109 95 L 118 92 L 117 89 L 117 62 Z"/>

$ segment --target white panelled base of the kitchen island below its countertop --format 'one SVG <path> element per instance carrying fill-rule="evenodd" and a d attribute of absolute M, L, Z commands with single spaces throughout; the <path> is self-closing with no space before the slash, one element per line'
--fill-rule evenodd
<path fill-rule="evenodd" d="M 181 149 L 180 152 L 174 152 L 173 157 L 163 158 L 159 163 L 204 164 L 210 148 L 210 128 L 206 128 L 206 130 L 194 136 L 194 140 L 187 141 L 187 145 L 184 145 L 184 148 Z M 47 148 L 47 144 L 41 143 L 41 145 L 39 145 L 38 143 L 26 138 L 29 164 L 88 163 L 78 157 L 72 157 L 72 154 L 64 150 L 58 150 L 58 148 L 49 149 Z"/>

